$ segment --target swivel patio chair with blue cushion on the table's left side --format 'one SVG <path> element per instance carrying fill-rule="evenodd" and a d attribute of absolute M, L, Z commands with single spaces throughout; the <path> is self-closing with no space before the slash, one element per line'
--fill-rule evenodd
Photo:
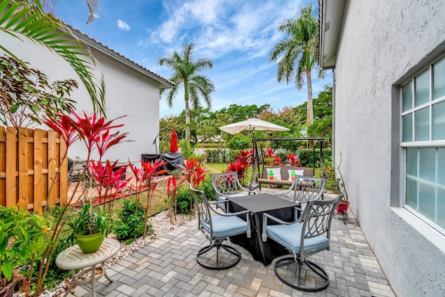
<path fill-rule="evenodd" d="M 223 242 L 229 236 L 246 233 L 250 238 L 250 211 L 238 211 L 236 213 L 218 213 L 209 202 L 203 191 L 195 190 L 189 185 L 195 195 L 197 209 L 198 229 L 209 239 L 210 245 L 197 252 L 196 261 L 204 268 L 223 270 L 234 267 L 241 260 L 241 253 L 232 246 Z M 226 200 L 223 203 L 228 203 Z M 219 202 L 220 203 L 220 202 Z M 213 215 L 211 213 L 213 211 Z M 238 216 L 245 216 L 245 220 Z M 216 255 L 215 255 L 216 254 Z"/>

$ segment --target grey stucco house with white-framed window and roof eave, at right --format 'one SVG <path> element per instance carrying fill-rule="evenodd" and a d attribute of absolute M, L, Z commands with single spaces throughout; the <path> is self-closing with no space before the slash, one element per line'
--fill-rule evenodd
<path fill-rule="evenodd" d="M 445 296 L 445 2 L 319 5 L 350 209 L 397 296 Z"/>

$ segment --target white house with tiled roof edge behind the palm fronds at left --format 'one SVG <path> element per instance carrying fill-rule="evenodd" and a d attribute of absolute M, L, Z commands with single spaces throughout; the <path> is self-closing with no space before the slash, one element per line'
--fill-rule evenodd
<path fill-rule="evenodd" d="M 115 123 L 124 124 L 124 127 L 120 128 L 120 132 L 129 132 L 126 138 L 129 142 L 112 147 L 106 152 L 106 158 L 122 162 L 138 161 L 140 154 L 159 152 L 159 141 L 154 142 L 159 134 L 159 89 L 171 88 L 174 83 L 138 65 L 88 35 L 68 27 L 76 35 L 76 38 L 90 48 L 92 56 L 97 60 L 98 70 L 95 72 L 97 77 L 100 75 L 99 69 L 102 70 L 106 88 L 107 119 L 112 120 L 126 115 L 124 118 L 116 120 Z M 6 45 L 18 58 L 30 63 L 34 69 L 47 74 L 51 81 L 76 79 L 79 89 L 74 90 L 71 96 L 77 102 L 76 112 L 92 113 L 92 104 L 86 88 L 63 58 L 26 38 L 20 41 L 0 32 L 0 39 L 2 45 Z M 0 54 L 3 52 L 0 51 Z M 68 156 L 72 159 L 76 156 L 86 159 L 84 145 L 80 142 L 74 143 L 68 151 Z M 92 157 L 97 159 L 97 154 Z"/>

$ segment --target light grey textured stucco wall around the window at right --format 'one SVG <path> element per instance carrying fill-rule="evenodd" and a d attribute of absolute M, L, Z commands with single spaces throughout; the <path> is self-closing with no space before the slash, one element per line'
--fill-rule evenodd
<path fill-rule="evenodd" d="M 350 208 L 398 296 L 445 296 L 445 239 L 401 204 L 399 88 L 445 45 L 444 1 L 348 1 L 335 152 Z"/>

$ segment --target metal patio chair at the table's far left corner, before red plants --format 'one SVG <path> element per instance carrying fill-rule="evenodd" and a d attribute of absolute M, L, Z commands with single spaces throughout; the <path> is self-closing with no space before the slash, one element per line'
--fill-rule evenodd
<path fill-rule="evenodd" d="M 225 201 L 227 197 L 244 196 L 246 193 L 248 193 L 248 195 L 255 194 L 254 191 L 241 186 L 236 172 L 213 174 L 210 175 L 210 178 L 213 189 L 216 192 L 216 200 L 218 201 Z M 240 193 L 242 191 L 245 193 Z M 217 206 L 225 212 L 228 211 L 228 209 L 226 209 L 227 203 L 218 203 Z"/>

